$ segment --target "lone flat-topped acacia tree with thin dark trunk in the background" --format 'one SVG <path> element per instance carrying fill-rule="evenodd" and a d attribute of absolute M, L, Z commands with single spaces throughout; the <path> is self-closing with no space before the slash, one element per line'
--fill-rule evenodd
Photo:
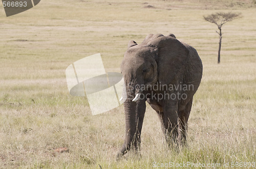
<path fill-rule="evenodd" d="M 223 33 L 221 32 L 221 27 L 223 24 L 240 17 L 241 17 L 241 13 L 234 13 L 234 12 L 227 12 L 227 13 L 217 12 L 217 13 L 204 16 L 204 20 L 211 23 L 215 23 L 219 29 L 219 32 L 216 31 L 219 34 L 219 38 L 220 38 L 219 51 L 218 51 L 218 63 L 220 63 L 220 60 L 221 60 L 221 40 L 223 35 Z"/>

